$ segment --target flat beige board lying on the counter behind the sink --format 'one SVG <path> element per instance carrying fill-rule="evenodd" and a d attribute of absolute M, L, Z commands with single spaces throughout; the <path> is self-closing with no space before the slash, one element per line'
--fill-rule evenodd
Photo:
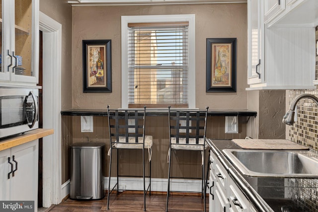
<path fill-rule="evenodd" d="M 243 149 L 309 149 L 307 146 L 284 139 L 233 139 L 232 142 Z"/>

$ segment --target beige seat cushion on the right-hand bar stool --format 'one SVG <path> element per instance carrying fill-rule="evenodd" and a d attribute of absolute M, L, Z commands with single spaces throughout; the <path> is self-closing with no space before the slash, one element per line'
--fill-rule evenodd
<path fill-rule="evenodd" d="M 179 143 L 176 143 L 176 138 L 171 138 L 171 148 L 180 150 L 203 150 L 204 139 L 199 139 L 199 144 L 196 144 L 196 139 L 189 139 L 189 144 L 185 144 L 185 138 L 180 138 Z M 204 149 L 208 147 L 207 142 L 205 142 Z"/>

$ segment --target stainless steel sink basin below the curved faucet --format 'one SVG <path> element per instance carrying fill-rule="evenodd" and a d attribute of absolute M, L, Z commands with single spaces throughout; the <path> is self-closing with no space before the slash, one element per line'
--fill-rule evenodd
<path fill-rule="evenodd" d="M 310 151 L 223 149 L 223 152 L 246 176 L 318 177 L 318 157 Z"/>

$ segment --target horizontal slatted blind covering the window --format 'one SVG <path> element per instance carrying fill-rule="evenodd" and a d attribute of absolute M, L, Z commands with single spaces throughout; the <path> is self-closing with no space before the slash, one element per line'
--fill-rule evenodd
<path fill-rule="evenodd" d="M 128 107 L 188 107 L 188 22 L 128 24 Z"/>

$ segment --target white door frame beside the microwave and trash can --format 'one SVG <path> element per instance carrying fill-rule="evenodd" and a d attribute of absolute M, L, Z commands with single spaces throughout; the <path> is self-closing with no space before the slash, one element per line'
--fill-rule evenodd
<path fill-rule="evenodd" d="M 61 69 L 62 24 L 40 11 L 43 32 L 43 128 L 54 134 L 43 138 L 43 207 L 61 203 Z"/>

